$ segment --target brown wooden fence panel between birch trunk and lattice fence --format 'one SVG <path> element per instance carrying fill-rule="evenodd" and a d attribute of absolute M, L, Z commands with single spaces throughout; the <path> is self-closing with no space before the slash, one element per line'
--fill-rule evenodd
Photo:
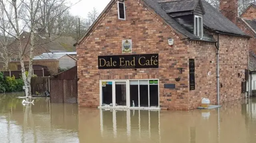
<path fill-rule="evenodd" d="M 44 95 L 45 91 L 49 91 L 49 77 L 32 77 L 30 85 L 32 95 L 36 92 Z"/>

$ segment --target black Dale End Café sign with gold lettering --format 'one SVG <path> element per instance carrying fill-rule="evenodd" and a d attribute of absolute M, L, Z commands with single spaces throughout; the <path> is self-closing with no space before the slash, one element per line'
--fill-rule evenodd
<path fill-rule="evenodd" d="M 98 56 L 98 69 L 158 68 L 158 54 Z"/>

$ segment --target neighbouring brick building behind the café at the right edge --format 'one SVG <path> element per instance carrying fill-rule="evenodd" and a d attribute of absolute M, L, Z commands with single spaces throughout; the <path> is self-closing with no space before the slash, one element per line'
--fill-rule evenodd
<path fill-rule="evenodd" d="M 256 90 L 256 5 L 250 4 L 248 8 L 237 18 L 237 25 L 252 38 L 249 41 L 249 81 L 247 91 Z M 250 83 L 249 83 L 250 82 Z M 254 94 L 255 92 L 253 92 Z"/>

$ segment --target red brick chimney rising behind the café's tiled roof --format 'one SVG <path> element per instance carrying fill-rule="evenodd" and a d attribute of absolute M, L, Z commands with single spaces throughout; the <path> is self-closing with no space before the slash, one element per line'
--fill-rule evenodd
<path fill-rule="evenodd" d="M 238 0 L 220 0 L 220 12 L 236 24 L 238 17 Z"/>

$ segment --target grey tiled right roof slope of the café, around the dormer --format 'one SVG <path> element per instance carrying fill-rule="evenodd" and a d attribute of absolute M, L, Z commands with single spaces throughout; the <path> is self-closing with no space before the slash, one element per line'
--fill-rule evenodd
<path fill-rule="evenodd" d="M 170 10 L 170 8 L 172 8 L 171 5 L 172 5 L 172 3 L 174 3 L 173 1 L 170 1 L 170 0 L 165 1 L 164 4 L 166 6 L 163 6 L 163 8 L 161 7 L 160 0 L 144 0 L 144 2 L 149 7 L 151 7 L 157 14 L 159 14 L 164 20 L 166 20 L 166 22 L 168 22 L 168 24 L 170 24 L 172 27 L 174 27 L 174 29 L 176 29 L 177 31 L 179 31 L 180 33 L 185 35 L 186 37 L 198 38 L 193 33 L 186 30 L 185 27 L 182 27 L 176 20 L 174 20 L 174 18 L 170 17 L 166 13 L 167 10 Z M 158 2 L 160 2 L 160 3 L 158 3 Z M 175 4 L 182 5 L 182 4 L 185 4 L 188 2 L 191 2 L 192 6 L 194 6 L 194 4 L 196 2 L 198 2 L 198 0 L 178 0 L 178 2 Z M 216 10 L 216 8 L 211 6 L 208 2 L 206 2 L 205 0 L 201 0 L 201 2 L 202 2 L 202 6 L 203 6 L 204 12 L 205 12 L 205 14 L 203 16 L 204 27 L 206 27 L 207 29 L 213 30 L 213 31 L 232 33 L 232 34 L 236 34 L 236 35 L 246 35 L 240 28 L 238 28 L 236 26 L 236 24 L 232 23 L 228 18 L 223 16 L 221 14 L 221 12 Z M 191 9 L 192 6 L 191 7 L 185 6 L 185 8 L 186 8 L 186 10 L 188 10 L 188 9 Z M 176 6 L 176 7 L 178 7 L 178 6 Z M 176 9 L 176 8 L 175 8 L 175 10 L 180 11 L 180 9 Z M 174 12 L 174 10 L 170 10 L 170 11 Z M 206 37 L 204 37 L 204 39 L 205 38 L 209 38 L 209 36 L 206 35 Z"/>

